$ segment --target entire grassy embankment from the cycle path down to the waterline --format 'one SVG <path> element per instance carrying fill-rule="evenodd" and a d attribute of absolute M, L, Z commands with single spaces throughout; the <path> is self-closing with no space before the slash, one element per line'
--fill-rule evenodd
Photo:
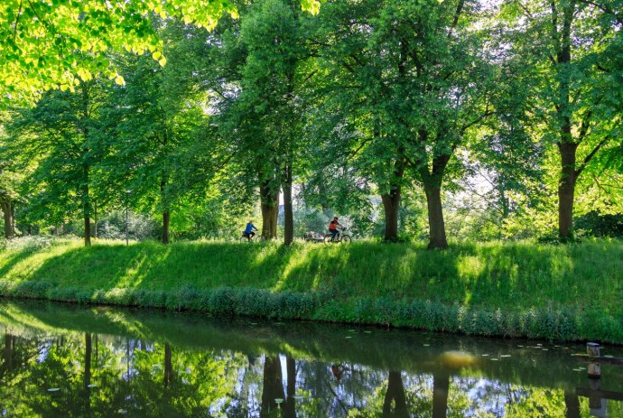
<path fill-rule="evenodd" d="M 623 344 L 623 243 L 65 242 L 0 252 L 0 295 Z"/>

